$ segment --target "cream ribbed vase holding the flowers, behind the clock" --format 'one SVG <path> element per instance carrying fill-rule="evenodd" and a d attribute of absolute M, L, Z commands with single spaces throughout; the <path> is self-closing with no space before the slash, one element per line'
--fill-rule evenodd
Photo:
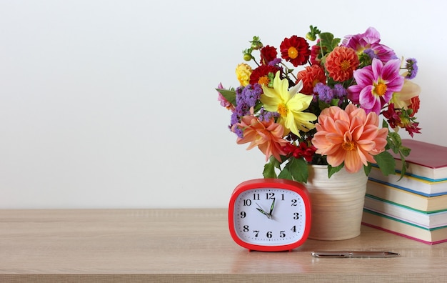
<path fill-rule="evenodd" d="M 309 239 L 342 240 L 360 234 L 363 204 L 368 177 L 363 169 L 357 173 L 341 171 L 328 178 L 328 167 L 309 165 L 311 194 L 311 233 Z"/>

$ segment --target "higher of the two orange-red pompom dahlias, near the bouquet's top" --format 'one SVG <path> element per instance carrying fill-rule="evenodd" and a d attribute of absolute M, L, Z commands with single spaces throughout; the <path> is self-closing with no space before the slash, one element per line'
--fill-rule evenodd
<path fill-rule="evenodd" d="M 358 64 L 360 62 L 354 49 L 337 46 L 328 54 L 324 66 L 334 81 L 346 81 L 352 78 Z"/>

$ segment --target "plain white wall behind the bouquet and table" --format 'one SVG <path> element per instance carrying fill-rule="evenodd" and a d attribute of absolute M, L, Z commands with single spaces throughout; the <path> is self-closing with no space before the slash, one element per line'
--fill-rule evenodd
<path fill-rule="evenodd" d="M 0 208 L 226 207 L 264 157 L 226 129 L 253 35 L 374 26 L 418 59 L 416 139 L 447 146 L 443 1 L 0 1 Z M 407 136 L 408 137 L 408 136 Z"/>

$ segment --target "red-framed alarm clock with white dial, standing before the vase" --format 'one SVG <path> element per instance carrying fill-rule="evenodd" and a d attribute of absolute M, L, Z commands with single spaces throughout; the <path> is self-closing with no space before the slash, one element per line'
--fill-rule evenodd
<path fill-rule="evenodd" d="M 230 209 L 233 239 L 248 249 L 293 249 L 307 239 L 310 207 L 308 195 L 299 189 L 241 188 Z"/>

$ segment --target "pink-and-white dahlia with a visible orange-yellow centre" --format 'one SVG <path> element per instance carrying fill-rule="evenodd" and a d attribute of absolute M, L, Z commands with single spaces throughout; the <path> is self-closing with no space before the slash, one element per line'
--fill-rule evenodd
<path fill-rule="evenodd" d="M 390 101 L 393 92 L 401 91 L 403 76 L 399 74 L 401 60 L 394 59 L 383 64 L 373 59 L 371 66 L 354 71 L 356 85 L 348 87 L 348 99 L 360 104 L 366 113 L 380 114 L 383 105 Z"/>

